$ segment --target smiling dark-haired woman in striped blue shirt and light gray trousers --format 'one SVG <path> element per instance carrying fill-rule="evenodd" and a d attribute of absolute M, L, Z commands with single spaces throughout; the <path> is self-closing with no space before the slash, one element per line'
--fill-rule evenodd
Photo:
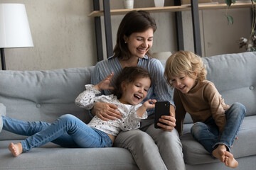
<path fill-rule="evenodd" d="M 142 121 L 140 130 L 121 132 L 114 142 L 115 147 L 129 149 L 139 169 L 185 169 L 181 141 L 175 127 L 174 101 L 168 93 L 164 79 L 164 68 L 159 60 L 149 57 L 149 49 L 153 45 L 156 30 L 154 18 L 146 11 L 131 11 L 124 16 L 117 31 L 117 44 L 114 56 L 98 62 L 92 73 L 92 84 L 98 84 L 107 75 L 114 72 L 113 81 L 124 67 L 144 67 L 152 78 L 149 98 L 156 101 L 169 101 L 170 115 L 161 117 L 161 129 L 154 128 L 154 109 L 148 111 L 149 118 Z M 112 84 L 114 86 L 114 84 Z M 102 94 L 111 94 L 109 90 Z M 117 107 L 108 103 L 95 103 L 92 114 L 102 120 L 121 118 Z M 154 161 L 153 161 L 154 160 Z"/>

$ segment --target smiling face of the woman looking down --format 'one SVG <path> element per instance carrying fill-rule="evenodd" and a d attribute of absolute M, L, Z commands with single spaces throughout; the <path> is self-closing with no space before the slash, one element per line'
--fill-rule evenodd
<path fill-rule="evenodd" d="M 146 52 L 153 45 L 153 34 L 153 29 L 149 28 L 142 33 L 132 33 L 129 37 L 124 35 L 124 41 L 127 42 L 132 57 L 143 58 L 146 55 Z"/>

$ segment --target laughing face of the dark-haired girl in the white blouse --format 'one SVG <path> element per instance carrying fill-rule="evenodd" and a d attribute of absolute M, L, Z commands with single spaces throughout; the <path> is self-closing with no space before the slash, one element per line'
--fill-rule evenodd
<path fill-rule="evenodd" d="M 129 84 L 122 83 L 121 103 L 137 105 L 141 103 L 149 91 L 151 80 L 148 77 L 136 79 Z"/>

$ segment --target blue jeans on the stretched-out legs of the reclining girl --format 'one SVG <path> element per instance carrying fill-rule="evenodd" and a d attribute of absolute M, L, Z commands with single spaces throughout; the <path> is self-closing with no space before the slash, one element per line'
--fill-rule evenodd
<path fill-rule="evenodd" d="M 26 122 L 2 115 L 3 130 L 29 136 L 21 141 L 23 152 L 53 142 L 62 147 L 112 147 L 105 132 L 90 128 L 73 115 L 62 115 L 54 123 Z"/>

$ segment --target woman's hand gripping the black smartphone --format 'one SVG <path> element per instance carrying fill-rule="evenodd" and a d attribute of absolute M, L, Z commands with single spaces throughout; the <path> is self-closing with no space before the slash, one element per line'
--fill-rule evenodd
<path fill-rule="evenodd" d="M 174 130 L 174 127 L 176 126 L 174 106 L 170 105 L 170 115 L 162 115 L 161 118 L 159 118 L 159 122 L 160 123 L 157 123 L 157 125 L 161 127 L 161 130 L 169 132 Z M 162 123 L 165 123 L 166 125 Z"/>

